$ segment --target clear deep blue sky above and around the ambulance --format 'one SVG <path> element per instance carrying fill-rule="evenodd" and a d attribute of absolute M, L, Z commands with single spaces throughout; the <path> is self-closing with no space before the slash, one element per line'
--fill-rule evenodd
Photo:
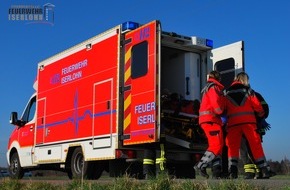
<path fill-rule="evenodd" d="M 8 20 L 12 5 L 55 5 L 54 25 Z M 290 158 L 290 1 L 3 1 L 0 5 L 0 166 L 6 166 L 11 111 L 22 113 L 33 93 L 37 63 L 125 21 L 160 20 L 162 29 L 214 41 L 245 41 L 253 89 L 270 105 L 272 128 L 264 137 L 268 159 Z"/>

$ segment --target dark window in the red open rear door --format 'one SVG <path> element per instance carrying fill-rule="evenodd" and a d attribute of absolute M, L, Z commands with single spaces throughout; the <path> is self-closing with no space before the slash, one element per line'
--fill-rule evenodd
<path fill-rule="evenodd" d="M 148 42 L 144 41 L 132 47 L 131 77 L 136 79 L 148 72 Z"/>

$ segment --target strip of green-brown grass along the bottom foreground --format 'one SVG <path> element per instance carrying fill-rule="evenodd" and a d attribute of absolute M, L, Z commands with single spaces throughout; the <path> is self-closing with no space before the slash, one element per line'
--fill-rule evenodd
<path fill-rule="evenodd" d="M 278 178 L 278 176 L 276 176 Z M 286 179 L 286 177 L 283 177 Z M 289 176 L 288 176 L 289 179 Z M 167 175 L 160 175 L 156 179 L 136 180 L 127 176 L 103 181 L 72 180 L 63 184 L 53 184 L 41 181 L 17 181 L 9 178 L 0 180 L 1 190 L 260 190 L 267 189 L 255 186 L 247 181 L 238 180 L 180 180 Z M 289 187 L 283 190 L 290 190 Z"/>

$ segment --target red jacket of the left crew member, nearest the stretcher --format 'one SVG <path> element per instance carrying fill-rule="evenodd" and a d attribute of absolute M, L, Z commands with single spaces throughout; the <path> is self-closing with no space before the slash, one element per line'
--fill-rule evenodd
<path fill-rule="evenodd" d="M 224 110 L 224 86 L 215 79 L 208 79 L 207 85 L 202 90 L 202 100 L 199 109 L 199 124 L 217 123 L 222 125 L 220 115 Z"/>

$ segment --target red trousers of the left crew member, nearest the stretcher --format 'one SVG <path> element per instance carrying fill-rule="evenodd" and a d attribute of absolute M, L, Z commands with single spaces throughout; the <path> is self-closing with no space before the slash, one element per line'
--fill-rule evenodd
<path fill-rule="evenodd" d="M 215 156 L 222 155 L 224 146 L 222 126 L 217 123 L 202 123 L 201 128 L 204 130 L 207 137 L 207 151 L 212 152 Z"/>

